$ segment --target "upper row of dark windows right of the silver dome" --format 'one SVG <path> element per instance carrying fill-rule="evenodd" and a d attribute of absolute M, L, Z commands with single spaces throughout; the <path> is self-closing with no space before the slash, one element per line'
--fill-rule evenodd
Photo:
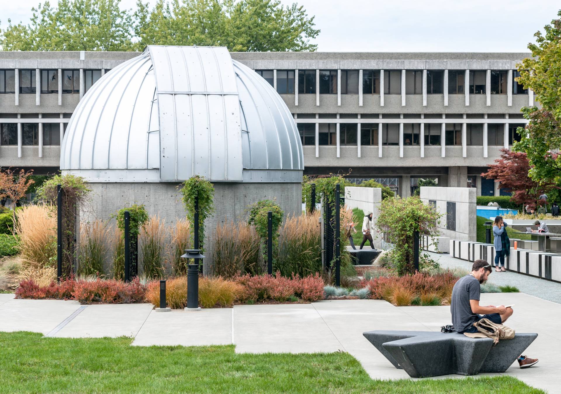
<path fill-rule="evenodd" d="M 273 70 L 256 70 L 271 86 L 274 86 Z M 341 70 L 341 94 L 358 94 L 358 70 Z M 448 71 L 448 94 L 464 94 L 464 70 Z M 528 90 L 519 85 L 514 78 L 519 77 L 516 70 L 512 72 L 512 94 L 528 94 Z M 469 91 L 471 94 L 485 94 L 487 72 L 470 71 Z M 508 71 L 491 71 L 491 94 L 507 94 Z M 277 70 L 277 92 L 293 94 L 295 92 L 295 71 Z M 443 94 L 444 71 L 427 70 L 427 94 Z M 298 70 L 298 94 L 316 93 L 316 70 Z M 319 93 L 337 94 L 337 70 L 319 70 Z M 380 94 L 380 70 L 362 71 L 362 93 Z M 405 72 L 405 93 L 422 94 L 422 71 Z M 384 94 L 401 94 L 401 71 L 384 70 Z"/>

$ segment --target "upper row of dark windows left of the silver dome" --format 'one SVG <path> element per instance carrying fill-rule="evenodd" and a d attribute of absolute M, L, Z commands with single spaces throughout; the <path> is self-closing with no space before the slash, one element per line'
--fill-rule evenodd
<path fill-rule="evenodd" d="M 105 72 L 109 71 L 108 69 Z M 84 89 L 88 91 L 102 77 L 100 69 L 84 70 Z M 37 92 L 36 71 L 34 69 L 20 69 L 19 81 L 21 94 L 34 94 Z M 58 93 L 58 70 L 40 70 L 40 92 L 44 94 Z M 16 73 L 13 69 L 0 70 L 0 93 L 16 92 Z M 80 70 L 62 70 L 62 92 L 80 93 Z"/>

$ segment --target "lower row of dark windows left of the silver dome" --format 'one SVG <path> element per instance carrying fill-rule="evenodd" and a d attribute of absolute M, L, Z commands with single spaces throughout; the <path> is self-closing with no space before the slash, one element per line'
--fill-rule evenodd
<path fill-rule="evenodd" d="M 39 123 L 21 124 L 21 144 L 39 145 Z M 17 123 L 0 123 L 0 145 L 17 145 Z M 43 123 L 43 145 L 61 145 L 60 123 Z"/>

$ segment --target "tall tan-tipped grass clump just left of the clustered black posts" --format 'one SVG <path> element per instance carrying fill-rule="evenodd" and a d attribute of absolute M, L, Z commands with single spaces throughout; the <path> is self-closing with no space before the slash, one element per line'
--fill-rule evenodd
<path fill-rule="evenodd" d="M 287 217 L 280 229 L 274 270 L 283 276 L 321 272 L 320 212 Z"/>

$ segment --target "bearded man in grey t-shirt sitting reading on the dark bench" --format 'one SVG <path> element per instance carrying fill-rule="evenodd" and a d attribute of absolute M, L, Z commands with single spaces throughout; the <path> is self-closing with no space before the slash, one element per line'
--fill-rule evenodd
<path fill-rule="evenodd" d="M 493 272 L 491 265 L 485 260 L 476 260 L 471 267 L 471 273 L 460 278 L 452 289 L 452 300 L 450 302 L 450 312 L 452 312 L 452 324 L 456 332 L 477 332 L 473 323 L 483 318 L 489 319 L 495 324 L 504 323 L 512 316 L 513 310 L 504 305 L 479 305 L 481 294 L 481 284 L 487 280 Z M 537 363 L 537 359 L 526 356 L 518 358 L 520 368 L 531 367 Z"/>

